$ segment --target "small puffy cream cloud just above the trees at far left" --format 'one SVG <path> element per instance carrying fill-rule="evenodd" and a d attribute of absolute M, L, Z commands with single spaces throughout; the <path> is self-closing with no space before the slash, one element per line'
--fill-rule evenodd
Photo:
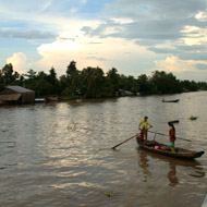
<path fill-rule="evenodd" d="M 13 53 L 12 57 L 7 59 L 7 63 L 12 63 L 13 70 L 20 74 L 23 74 L 28 70 L 27 58 L 23 52 Z"/>

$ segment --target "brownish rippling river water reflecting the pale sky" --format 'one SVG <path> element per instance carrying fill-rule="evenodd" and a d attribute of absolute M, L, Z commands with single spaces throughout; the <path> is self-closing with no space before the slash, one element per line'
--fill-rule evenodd
<path fill-rule="evenodd" d="M 139 149 L 135 139 L 111 149 L 137 133 L 144 115 L 163 134 L 179 120 L 176 135 L 192 142 L 175 145 L 206 150 L 207 92 L 1 107 L 0 206 L 200 206 L 207 151 L 184 161 Z"/>

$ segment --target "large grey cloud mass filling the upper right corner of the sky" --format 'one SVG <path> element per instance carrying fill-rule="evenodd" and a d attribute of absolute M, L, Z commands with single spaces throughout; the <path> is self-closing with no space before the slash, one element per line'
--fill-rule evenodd
<path fill-rule="evenodd" d="M 185 46 L 207 47 L 205 9 L 205 0 L 175 0 L 168 3 L 160 0 L 117 0 L 108 4 L 108 19 L 104 19 L 96 28 L 85 26 L 82 31 L 89 37 L 135 40 L 157 54 L 170 53 L 184 60 L 205 60 L 206 51 L 181 49 Z M 115 21 L 119 19 L 130 21 Z"/>

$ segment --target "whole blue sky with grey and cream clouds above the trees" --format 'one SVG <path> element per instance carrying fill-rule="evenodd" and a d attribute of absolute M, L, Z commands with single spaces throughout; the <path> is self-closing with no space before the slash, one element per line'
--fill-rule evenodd
<path fill-rule="evenodd" d="M 0 0 L 0 69 L 112 68 L 207 82 L 207 0 Z"/>

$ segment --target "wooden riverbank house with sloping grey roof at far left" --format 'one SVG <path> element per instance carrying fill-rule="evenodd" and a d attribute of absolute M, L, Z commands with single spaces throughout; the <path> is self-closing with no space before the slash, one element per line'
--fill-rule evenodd
<path fill-rule="evenodd" d="M 35 92 L 21 86 L 5 86 L 0 93 L 1 104 L 35 102 Z"/>

